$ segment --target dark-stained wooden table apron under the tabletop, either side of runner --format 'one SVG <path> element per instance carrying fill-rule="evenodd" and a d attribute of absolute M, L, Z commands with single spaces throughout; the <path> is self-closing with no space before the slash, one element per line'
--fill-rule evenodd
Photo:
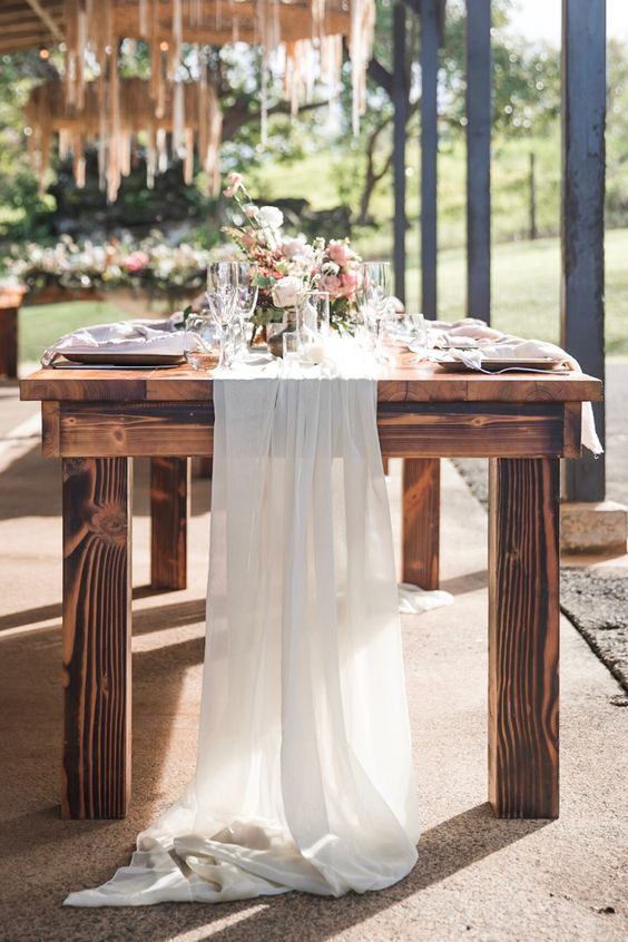
<path fill-rule="evenodd" d="M 213 424 L 209 402 L 63 402 L 59 454 L 207 458 Z M 392 458 L 565 453 L 563 403 L 385 403 L 377 426 L 382 453 Z M 45 421 L 47 436 L 56 429 L 48 430 Z"/>

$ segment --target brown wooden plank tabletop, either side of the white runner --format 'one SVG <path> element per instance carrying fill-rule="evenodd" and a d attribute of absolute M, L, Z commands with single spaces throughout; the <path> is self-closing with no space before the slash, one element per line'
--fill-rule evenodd
<path fill-rule="evenodd" d="M 445 373 L 432 363 L 382 367 L 379 402 L 583 402 L 602 384 L 583 373 Z M 22 400 L 56 402 L 207 402 L 213 380 L 187 365 L 170 370 L 38 370 Z"/>

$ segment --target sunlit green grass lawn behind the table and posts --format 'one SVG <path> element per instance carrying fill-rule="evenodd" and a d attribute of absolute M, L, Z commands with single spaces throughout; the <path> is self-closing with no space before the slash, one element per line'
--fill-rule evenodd
<path fill-rule="evenodd" d="M 557 238 L 494 246 L 493 324 L 509 333 L 557 341 L 559 337 L 560 246 Z M 416 306 L 419 271 L 408 273 L 409 304 Z M 464 316 L 465 258 L 461 248 L 439 257 L 439 315 Z M 147 312 L 149 316 L 150 312 Z M 24 307 L 20 313 L 20 360 L 39 360 L 61 334 L 79 326 L 126 317 L 109 302 L 73 302 Z M 628 355 L 628 229 L 606 236 L 607 353 Z"/>

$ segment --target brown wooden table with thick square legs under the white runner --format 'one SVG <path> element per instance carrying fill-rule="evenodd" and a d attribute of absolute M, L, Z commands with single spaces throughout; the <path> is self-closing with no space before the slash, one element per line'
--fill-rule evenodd
<path fill-rule="evenodd" d="M 500 817 L 558 816 L 559 459 L 580 453 L 581 374 L 379 382 L 384 455 L 404 458 L 403 578 L 438 585 L 440 458 L 490 461 L 489 798 Z M 151 458 L 153 582 L 183 588 L 188 458 L 213 454 L 213 384 L 187 367 L 40 370 L 43 454 L 63 463 L 63 786 L 68 817 L 130 797 L 131 459 Z"/>

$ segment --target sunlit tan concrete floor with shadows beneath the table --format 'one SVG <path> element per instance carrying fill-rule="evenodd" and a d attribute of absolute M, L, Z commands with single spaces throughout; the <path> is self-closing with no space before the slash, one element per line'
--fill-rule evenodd
<path fill-rule="evenodd" d="M 449 462 L 442 569 L 455 604 L 403 618 L 423 820 L 413 873 L 389 891 L 337 901 L 293 893 L 218 906 L 62 907 L 70 890 L 100 883 L 128 861 L 137 832 L 179 795 L 194 768 L 209 491 L 207 482 L 195 481 L 189 588 L 151 593 L 143 588 L 146 468 L 137 468 L 134 802 L 125 821 L 63 822 L 59 469 L 39 458 L 32 440 L 18 445 L 6 453 L 0 474 L 2 942 L 628 938 L 628 709 L 614 706 L 618 685 L 567 621 L 561 817 L 495 821 L 485 803 L 487 520 Z M 399 462 L 392 465 L 399 521 Z"/>

